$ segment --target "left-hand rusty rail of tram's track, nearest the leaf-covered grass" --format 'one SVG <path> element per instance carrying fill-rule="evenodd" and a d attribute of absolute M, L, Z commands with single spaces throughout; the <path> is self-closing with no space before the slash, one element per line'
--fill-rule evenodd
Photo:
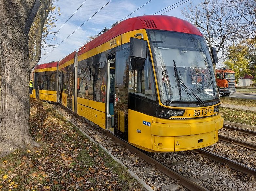
<path fill-rule="evenodd" d="M 106 133 L 113 141 L 121 144 L 123 148 L 126 148 L 129 151 L 135 153 L 136 157 L 140 157 L 141 159 L 148 162 L 151 165 L 151 167 L 157 168 L 159 171 L 161 171 L 162 173 L 166 174 L 167 176 L 169 176 L 170 178 L 175 180 L 176 184 L 180 184 L 180 185 L 186 187 L 189 190 L 209 191 L 208 189 L 204 188 L 203 186 L 197 184 L 196 182 L 190 180 L 189 178 L 179 174 L 178 172 L 172 170 L 168 166 L 162 164 L 158 160 L 150 157 L 149 155 L 147 155 L 145 152 L 141 151 L 140 149 L 132 146 L 131 144 L 127 143 L 126 141 L 123 141 L 122 139 L 115 136 L 114 134 L 112 134 L 108 130 L 102 130 L 102 131 L 104 133 Z"/>

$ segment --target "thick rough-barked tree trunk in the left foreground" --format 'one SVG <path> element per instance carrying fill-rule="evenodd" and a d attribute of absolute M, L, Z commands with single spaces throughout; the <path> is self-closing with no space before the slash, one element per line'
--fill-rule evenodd
<path fill-rule="evenodd" d="M 28 57 L 35 1 L 0 0 L 0 157 L 35 144 L 29 133 Z"/>

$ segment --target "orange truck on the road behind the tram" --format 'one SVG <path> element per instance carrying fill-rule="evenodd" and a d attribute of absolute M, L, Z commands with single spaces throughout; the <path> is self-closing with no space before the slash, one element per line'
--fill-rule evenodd
<path fill-rule="evenodd" d="M 235 72 L 232 69 L 223 68 L 216 70 L 216 81 L 219 94 L 222 96 L 229 96 L 236 92 Z"/>

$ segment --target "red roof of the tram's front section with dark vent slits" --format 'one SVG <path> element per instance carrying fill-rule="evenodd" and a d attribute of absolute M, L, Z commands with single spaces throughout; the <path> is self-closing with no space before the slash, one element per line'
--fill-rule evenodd
<path fill-rule="evenodd" d="M 138 29 L 158 29 L 202 36 L 202 33 L 194 25 L 183 19 L 167 15 L 144 15 L 129 18 L 120 22 L 99 37 L 86 45 L 83 45 L 82 48 L 79 49 L 78 55 L 81 55 L 123 33 Z"/>

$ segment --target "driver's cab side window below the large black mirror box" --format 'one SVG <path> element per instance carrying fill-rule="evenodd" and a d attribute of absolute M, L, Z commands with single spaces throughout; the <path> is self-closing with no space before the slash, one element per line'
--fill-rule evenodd
<path fill-rule="evenodd" d="M 129 92 L 156 100 L 155 80 L 152 63 L 147 56 L 145 62 L 129 69 Z"/>

